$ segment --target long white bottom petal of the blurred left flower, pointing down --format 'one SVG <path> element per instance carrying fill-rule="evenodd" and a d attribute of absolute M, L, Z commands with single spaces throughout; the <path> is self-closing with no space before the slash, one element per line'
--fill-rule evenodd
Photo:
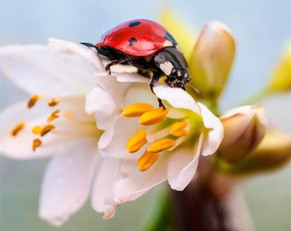
<path fill-rule="evenodd" d="M 91 140 L 79 140 L 55 156 L 45 171 L 39 216 L 61 226 L 84 205 L 94 174 L 97 153 Z"/>

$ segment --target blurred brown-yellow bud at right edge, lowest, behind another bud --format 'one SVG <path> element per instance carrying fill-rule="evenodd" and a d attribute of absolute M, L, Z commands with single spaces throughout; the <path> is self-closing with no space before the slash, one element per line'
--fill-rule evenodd
<path fill-rule="evenodd" d="M 242 162 L 232 166 L 232 174 L 254 174 L 275 170 L 291 158 L 291 137 L 277 131 L 267 131 L 266 136 Z"/>

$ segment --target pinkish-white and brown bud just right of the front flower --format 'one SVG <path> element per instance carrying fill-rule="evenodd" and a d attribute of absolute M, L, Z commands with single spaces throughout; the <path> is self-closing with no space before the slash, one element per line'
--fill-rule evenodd
<path fill-rule="evenodd" d="M 219 157 L 236 163 L 250 153 L 266 134 L 266 115 L 262 105 L 234 108 L 221 116 L 225 136 L 219 146 Z"/>

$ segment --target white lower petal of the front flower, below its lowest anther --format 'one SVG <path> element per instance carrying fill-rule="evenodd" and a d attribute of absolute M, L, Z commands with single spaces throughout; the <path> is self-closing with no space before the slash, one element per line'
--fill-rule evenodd
<path fill-rule="evenodd" d="M 125 177 L 115 184 L 115 202 L 124 204 L 146 194 L 147 191 L 166 181 L 166 159 L 164 156 L 146 172 L 140 172 L 136 160 L 126 160 L 122 171 Z"/>

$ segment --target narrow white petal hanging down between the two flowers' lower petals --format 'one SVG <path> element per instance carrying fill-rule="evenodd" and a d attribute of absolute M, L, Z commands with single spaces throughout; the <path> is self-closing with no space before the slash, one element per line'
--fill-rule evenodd
<path fill-rule="evenodd" d="M 105 219 L 115 215 L 117 206 L 114 202 L 115 182 L 121 176 L 119 160 L 115 158 L 104 158 L 101 160 L 95 176 L 92 206 L 96 212 L 104 213 Z"/>

